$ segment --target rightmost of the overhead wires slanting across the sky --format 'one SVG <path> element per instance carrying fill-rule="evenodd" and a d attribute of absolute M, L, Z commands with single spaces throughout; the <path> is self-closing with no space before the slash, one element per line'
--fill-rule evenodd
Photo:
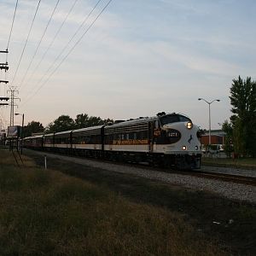
<path fill-rule="evenodd" d="M 103 9 L 101 10 L 101 12 L 96 15 L 96 18 L 90 23 L 90 26 L 85 30 L 85 32 L 81 35 L 81 37 L 79 38 L 79 40 L 73 45 L 73 47 L 67 52 L 67 55 L 64 56 L 64 58 L 60 61 L 60 63 L 55 67 L 55 69 L 53 70 L 52 73 L 49 74 L 48 78 L 44 80 L 44 83 L 41 84 L 38 87 L 38 90 L 35 91 L 34 94 L 32 94 L 32 96 L 29 96 L 26 99 L 26 102 L 23 103 L 23 105 L 21 105 L 21 107 L 23 107 L 27 102 L 29 102 L 33 96 L 36 96 L 38 91 L 42 89 L 42 87 L 44 86 L 44 84 L 46 84 L 49 79 L 53 76 L 53 74 L 57 71 L 57 69 L 59 67 L 61 67 L 61 64 L 67 59 L 68 55 L 70 55 L 73 51 L 73 49 L 75 49 L 75 47 L 79 44 L 79 42 L 84 38 L 84 35 L 90 30 L 90 28 L 95 24 L 96 20 L 98 20 L 98 18 L 102 15 L 102 13 L 104 12 L 105 9 L 108 8 L 108 5 L 112 2 L 113 0 L 109 0 L 108 3 L 103 7 Z"/>

